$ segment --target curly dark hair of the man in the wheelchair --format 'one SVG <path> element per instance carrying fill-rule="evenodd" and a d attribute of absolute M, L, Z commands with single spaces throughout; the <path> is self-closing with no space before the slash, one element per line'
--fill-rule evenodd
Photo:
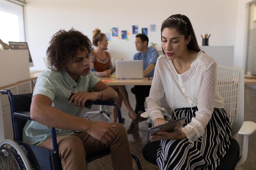
<path fill-rule="evenodd" d="M 88 51 L 88 55 L 94 50 L 90 39 L 75 29 L 59 30 L 52 36 L 49 44 L 46 51 L 47 62 L 57 71 L 67 68 L 67 64 L 76 57 L 78 49 Z"/>

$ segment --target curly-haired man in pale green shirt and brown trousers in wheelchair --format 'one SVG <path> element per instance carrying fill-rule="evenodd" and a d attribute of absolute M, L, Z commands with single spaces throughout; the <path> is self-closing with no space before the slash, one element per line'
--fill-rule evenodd
<path fill-rule="evenodd" d="M 89 38 L 74 29 L 60 30 L 49 43 L 49 67 L 38 77 L 31 102 L 30 116 L 35 121 L 27 121 L 23 141 L 52 150 L 49 127 L 53 127 L 63 170 L 86 170 L 85 157 L 108 149 L 114 170 L 131 170 L 124 126 L 83 118 L 87 100 L 117 99 L 115 90 L 90 71 L 93 46 Z"/>

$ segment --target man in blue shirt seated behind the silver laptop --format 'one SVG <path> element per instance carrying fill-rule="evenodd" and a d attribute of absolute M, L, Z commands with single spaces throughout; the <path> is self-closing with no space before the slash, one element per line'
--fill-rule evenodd
<path fill-rule="evenodd" d="M 144 34 L 137 34 L 135 39 L 135 47 L 138 53 L 133 56 L 133 60 L 143 60 L 143 75 L 151 77 L 154 74 L 155 64 L 159 57 L 158 51 L 153 47 L 148 47 L 148 37 Z M 138 130 L 139 122 L 146 120 L 140 117 L 140 114 L 145 112 L 145 97 L 148 97 L 151 86 L 134 86 L 131 91 L 135 94 L 137 119 L 133 120 L 127 132 Z"/>

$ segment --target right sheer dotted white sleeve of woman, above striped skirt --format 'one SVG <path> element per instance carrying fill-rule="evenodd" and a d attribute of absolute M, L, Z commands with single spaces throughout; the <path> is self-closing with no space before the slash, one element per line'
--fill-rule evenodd
<path fill-rule="evenodd" d="M 191 122 L 182 128 L 189 142 L 196 141 L 204 135 L 204 128 L 207 126 L 213 113 L 213 100 L 217 86 L 217 64 L 213 61 L 203 75 L 198 95 L 198 111 Z"/>

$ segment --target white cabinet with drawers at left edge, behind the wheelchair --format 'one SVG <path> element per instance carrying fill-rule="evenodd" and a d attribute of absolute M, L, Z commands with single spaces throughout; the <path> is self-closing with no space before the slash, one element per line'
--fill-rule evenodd
<path fill-rule="evenodd" d="M 13 95 L 32 92 L 27 50 L 0 50 L 0 79 L 0 89 Z M 4 139 L 13 139 L 13 128 L 8 95 L 0 94 L 0 141 Z"/>

